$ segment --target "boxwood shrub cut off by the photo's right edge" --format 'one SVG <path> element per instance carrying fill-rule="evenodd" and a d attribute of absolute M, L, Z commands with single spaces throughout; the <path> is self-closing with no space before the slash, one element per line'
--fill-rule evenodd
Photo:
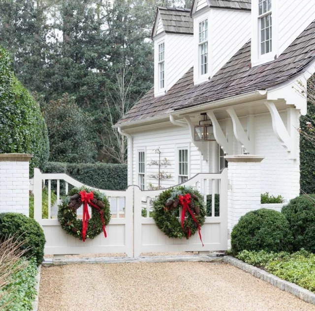
<path fill-rule="evenodd" d="M 293 249 L 315 253 L 315 194 L 301 195 L 282 208 L 293 234 Z"/>

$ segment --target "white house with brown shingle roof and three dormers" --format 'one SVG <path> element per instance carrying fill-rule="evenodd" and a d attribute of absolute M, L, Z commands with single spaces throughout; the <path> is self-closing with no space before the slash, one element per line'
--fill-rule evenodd
<path fill-rule="evenodd" d="M 296 89 L 315 72 L 315 1 L 158 7 L 152 39 L 154 87 L 115 125 L 128 137 L 128 184 L 157 185 L 156 149 L 170 161 L 162 187 L 246 154 L 263 156 L 261 193 L 299 195 L 297 129 L 307 103 Z"/>

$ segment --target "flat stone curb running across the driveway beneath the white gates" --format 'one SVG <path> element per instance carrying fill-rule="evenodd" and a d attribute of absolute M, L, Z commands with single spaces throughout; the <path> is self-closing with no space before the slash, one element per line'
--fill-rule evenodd
<path fill-rule="evenodd" d="M 45 258 L 43 266 L 66 265 L 79 263 L 138 263 L 138 262 L 223 262 L 222 257 L 211 257 L 208 255 L 195 256 L 153 256 L 153 257 L 98 257 L 98 258 Z"/>

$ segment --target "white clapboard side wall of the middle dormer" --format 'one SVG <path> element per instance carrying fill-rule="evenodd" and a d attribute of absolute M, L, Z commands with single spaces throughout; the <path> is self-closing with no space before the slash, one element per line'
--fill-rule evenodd
<path fill-rule="evenodd" d="M 251 14 L 247 11 L 212 9 L 209 46 L 211 76 L 251 38 Z"/>

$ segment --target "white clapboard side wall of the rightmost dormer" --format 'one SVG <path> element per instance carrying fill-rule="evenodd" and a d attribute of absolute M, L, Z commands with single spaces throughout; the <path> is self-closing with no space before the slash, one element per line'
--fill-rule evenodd
<path fill-rule="evenodd" d="M 279 54 L 281 54 L 314 21 L 315 1 L 279 1 L 278 14 Z"/>

